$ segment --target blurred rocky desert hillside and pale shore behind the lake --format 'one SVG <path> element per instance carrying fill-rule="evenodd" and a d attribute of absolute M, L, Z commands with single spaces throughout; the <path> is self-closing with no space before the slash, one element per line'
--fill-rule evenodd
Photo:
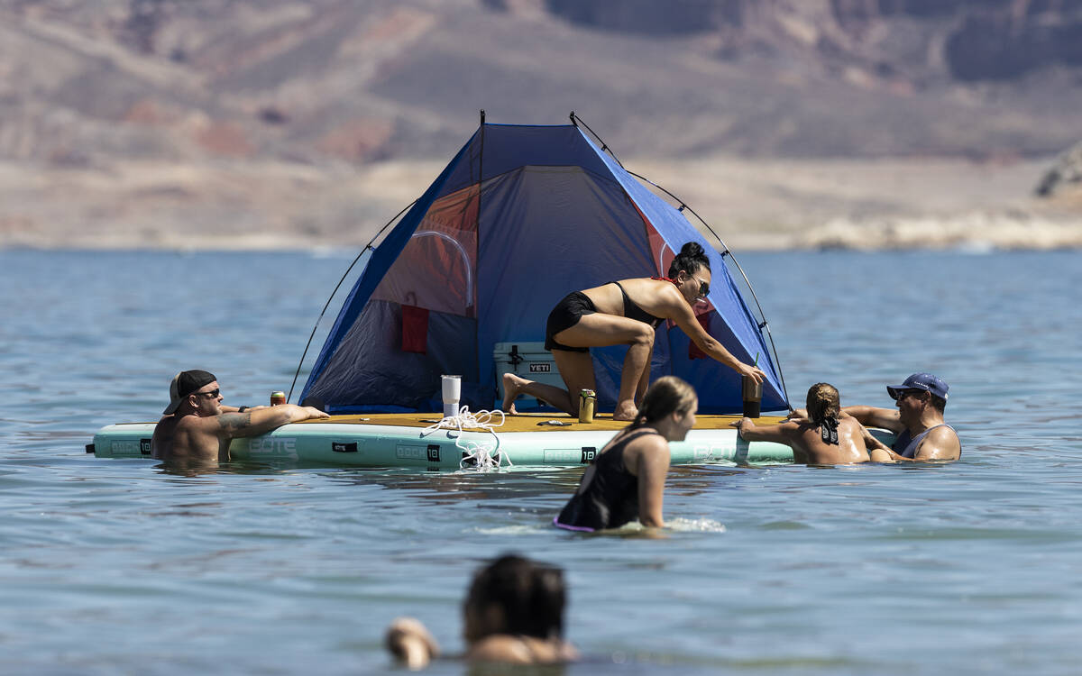
<path fill-rule="evenodd" d="M 0 247 L 355 248 L 481 108 L 735 248 L 1082 246 L 1082 0 L 0 0 Z"/>

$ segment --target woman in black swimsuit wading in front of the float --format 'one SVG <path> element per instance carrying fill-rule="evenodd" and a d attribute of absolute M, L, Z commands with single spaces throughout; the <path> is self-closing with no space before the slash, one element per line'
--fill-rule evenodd
<path fill-rule="evenodd" d="M 683 441 L 695 425 L 699 398 L 675 375 L 659 377 L 635 419 L 612 437 L 586 467 L 579 490 L 553 523 L 568 530 L 619 528 L 638 519 L 661 528 L 669 442 Z"/>

